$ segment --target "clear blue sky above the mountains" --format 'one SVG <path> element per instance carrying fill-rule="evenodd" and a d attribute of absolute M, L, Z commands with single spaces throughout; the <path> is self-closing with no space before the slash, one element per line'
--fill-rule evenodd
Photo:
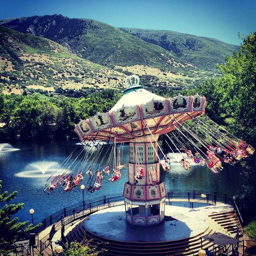
<path fill-rule="evenodd" d="M 113 26 L 172 30 L 240 44 L 256 29 L 256 0 L 0 0 L 0 18 L 62 14 Z"/>

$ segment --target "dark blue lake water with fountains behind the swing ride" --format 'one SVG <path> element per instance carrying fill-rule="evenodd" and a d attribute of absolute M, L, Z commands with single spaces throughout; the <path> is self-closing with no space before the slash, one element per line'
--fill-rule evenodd
<path fill-rule="evenodd" d="M 110 145 L 109 145 L 110 146 Z M 104 156 L 108 145 L 104 146 Z M 25 203 L 23 210 L 18 212 L 19 220 L 31 220 L 29 209 L 33 208 L 35 223 L 48 217 L 50 214 L 63 207 L 82 201 L 82 191 L 79 187 L 71 192 L 64 192 L 58 187 L 49 196 L 43 192 L 45 181 L 54 173 L 62 173 L 63 161 L 72 152 L 81 152 L 84 149 L 75 140 L 40 141 L 40 142 L 16 142 L 0 144 L 0 179 L 3 180 L 3 191 L 17 191 L 14 203 Z M 92 154 L 97 154 L 98 149 L 91 147 Z M 84 156 L 86 149 L 80 154 Z M 124 160 L 127 163 L 129 157 L 128 144 L 124 146 Z M 171 155 L 173 161 L 172 170 L 161 172 L 161 180 L 165 181 L 167 191 L 173 190 L 208 190 L 220 193 L 236 194 L 242 186 L 240 166 L 234 167 L 224 164 L 224 170 L 215 174 L 206 167 L 191 165 L 189 171 L 185 171 L 180 164 L 175 163 L 177 154 Z M 78 158 L 79 159 L 79 158 Z M 101 161 L 96 159 L 96 166 Z M 80 161 L 75 164 L 79 166 Z M 102 163 L 104 167 L 104 163 Z M 111 170 L 111 169 L 110 169 Z M 86 185 L 87 177 L 84 179 Z M 108 180 L 104 174 L 103 186 L 95 193 L 85 192 L 85 200 L 102 197 L 104 195 L 115 196 L 123 193 L 124 183 L 127 181 L 127 168 L 122 169 L 122 178 L 114 183 Z"/>

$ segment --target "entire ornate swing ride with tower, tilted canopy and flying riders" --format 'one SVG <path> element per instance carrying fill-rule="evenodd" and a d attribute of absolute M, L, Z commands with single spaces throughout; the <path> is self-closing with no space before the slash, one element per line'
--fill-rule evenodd
<path fill-rule="evenodd" d="M 158 142 L 159 136 L 184 171 L 196 164 L 218 173 L 223 169 L 221 161 L 234 165 L 254 153 L 243 140 L 200 117 L 205 113 L 205 97 L 179 95 L 166 99 L 146 91 L 134 75 L 125 83 L 123 97 L 109 112 L 97 113 L 75 126 L 85 146 L 64 161 L 65 172 L 45 184 L 49 193 L 60 184 L 70 192 L 85 179 L 86 190 L 91 193 L 100 190 L 104 176 L 110 182 L 118 181 L 126 167 L 122 163 L 124 143 L 129 143 L 129 180 L 123 192 L 126 221 L 156 225 L 165 217 L 166 188 L 160 180 L 160 167 L 164 171 L 173 168 Z M 100 144 L 102 141 L 112 144 Z M 97 151 L 92 150 L 95 147 Z"/>

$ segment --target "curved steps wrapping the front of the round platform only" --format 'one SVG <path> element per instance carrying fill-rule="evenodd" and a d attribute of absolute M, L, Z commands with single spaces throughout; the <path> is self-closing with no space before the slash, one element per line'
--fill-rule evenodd
<path fill-rule="evenodd" d="M 206 230 L 194 237 L 176 241 L 165 242 L 124 242 L 99 238 L 85 231 L 83 222 L 79 223 L 66 238 L 68 241 L 82 241 L 84 238 L 92 240 L 97 247 L 107 250 L 104 255 L 191 255 L 197 254 L 201 249 L 201 236 L 212 234 L 214 231 L 207 227 Z M 99 243 L 99 244 L 98 244 Z M 204 248 L 212 248 L 214 244 L 203 240 Z"/>

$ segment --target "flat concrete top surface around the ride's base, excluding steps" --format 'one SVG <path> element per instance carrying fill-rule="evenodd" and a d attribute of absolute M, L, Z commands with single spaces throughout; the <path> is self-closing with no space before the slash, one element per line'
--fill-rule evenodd
<path fill-rule="evenodd" d="M 83 226 L 85 232 L 88 231 L 99 238 L 113 241 L 176 241 L 203 233 L 210 225 L 209 214 L 233 210 L 232 206 L 222 203 L 194 209 L 167 205 L 165 207 L 167 218 L 158 226 L 141 227 L 126 223 L 123 205 L 91 214 L 83 221 Z M 174 220 L 168 221 L 168 217 L 172 217 Z"/>

